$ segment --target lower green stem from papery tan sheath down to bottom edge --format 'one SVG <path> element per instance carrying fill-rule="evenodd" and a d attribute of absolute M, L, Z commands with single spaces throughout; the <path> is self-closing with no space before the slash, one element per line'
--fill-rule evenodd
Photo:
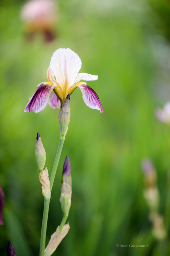
<path fill-rule="evenodd" d="M 40 256 L 44 256 L 49 205 L 50 205 L 50 199 L 48 200 L 44 199 L 44 211 L 43 211 L 43 221 L 42 221 L 42 227 L 41 227 L 41 240 L 40 240 Z"/>

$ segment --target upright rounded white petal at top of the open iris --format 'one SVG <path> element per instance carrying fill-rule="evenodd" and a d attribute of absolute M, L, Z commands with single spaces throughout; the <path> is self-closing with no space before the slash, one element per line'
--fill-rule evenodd
<path fill-rule="evenodd" d="M 71 49 L 58 49 L 52 55 L 50 67 L 59 85 L 69 87 L 75 83 L 81 69 L 81 59 Z"/>

